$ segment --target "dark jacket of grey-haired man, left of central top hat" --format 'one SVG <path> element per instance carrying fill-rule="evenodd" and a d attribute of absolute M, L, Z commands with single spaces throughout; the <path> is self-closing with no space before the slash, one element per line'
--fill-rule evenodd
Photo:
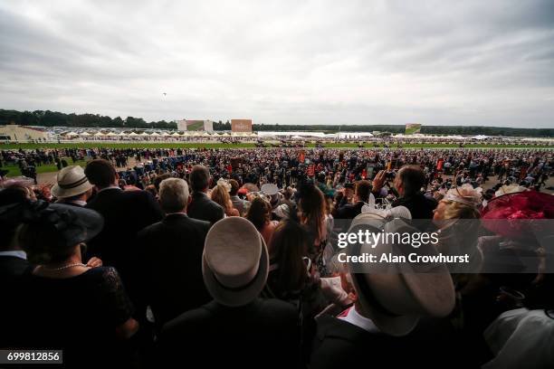
<path fill-rule="evenodd" d="M 139 232 L 141 292 L 158 327 L 212 299 L 202 278 L 209 229 L 209 222 L 175 213 Z"/>

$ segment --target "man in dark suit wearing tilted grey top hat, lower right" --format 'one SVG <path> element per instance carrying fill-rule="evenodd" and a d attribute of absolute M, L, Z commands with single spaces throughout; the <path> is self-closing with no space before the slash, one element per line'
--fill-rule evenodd
<path fill-rule="evenodd" d="M 358 222 L 349 232 L 374 228 L 375 220 L 360 221 L 365 225 Z M 383 231 L 417 232 L 397 218 L 384 221 Z M 351 246 L 350 255 L 372 252 L 377 260 L 390 252 L 401 252 L 397 244 L 385 240 L 377 245 L 364 242 Z M 427 244 L 418 249 L 418 254 L 433 257 L 438 251 Z M 310 368 L 458 367 L 460 359 L 454 351 L 459 345 L 454 344 L 449 318 L 456 294 L 444 264 L 435 264 L 429 273 L 414 273 L 391 262 L 387 263 L 387 275 L 360 273 L 352 264 L 348 263 L 348 274 L 343 272 L 340 278 L 341 288 L 354 305 L 339 317 L 316 318 Z M 397 293 L 391 297 L 390 291 Z"/>

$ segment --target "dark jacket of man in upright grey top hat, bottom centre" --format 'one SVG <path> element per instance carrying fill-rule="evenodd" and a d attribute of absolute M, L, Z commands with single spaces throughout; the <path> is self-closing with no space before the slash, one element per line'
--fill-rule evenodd
<path fill-rule="evenodd" d="M 244 307 L 212 301 L 164 326 L 158 360 L 173 367 L 298 367 L 298 317 L 296 307 L 277 299 L 256 299 Z"/>

